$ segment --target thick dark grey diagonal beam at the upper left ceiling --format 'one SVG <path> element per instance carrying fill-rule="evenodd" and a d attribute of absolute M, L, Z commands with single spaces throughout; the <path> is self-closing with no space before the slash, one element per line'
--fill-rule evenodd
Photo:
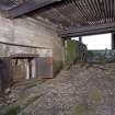
<path fill-rule="evenodd" d="M 8 16 L 9 18 L 16 18 L 16 16 L 20 16 L 22 14 L 34 11 L 36 9 L 43 8 L 45 5 L 55 3 L 57 1 L 61 1 L 61 0 L 27 0 L 23 3 L 21 3 L 20 5 L 8 10 L 8 14 L 9 14 Z"/>

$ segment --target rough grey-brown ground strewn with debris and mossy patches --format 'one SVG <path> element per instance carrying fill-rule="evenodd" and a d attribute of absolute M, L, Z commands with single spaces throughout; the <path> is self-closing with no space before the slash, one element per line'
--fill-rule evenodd
<path fill-rule="evenodd" d="M 115 114 L 115 64 L 76 65 L 54 80 L 28 84 L 12 90 L 13 104 L 8 112 L 16 110 L 19 115 Z"/>

